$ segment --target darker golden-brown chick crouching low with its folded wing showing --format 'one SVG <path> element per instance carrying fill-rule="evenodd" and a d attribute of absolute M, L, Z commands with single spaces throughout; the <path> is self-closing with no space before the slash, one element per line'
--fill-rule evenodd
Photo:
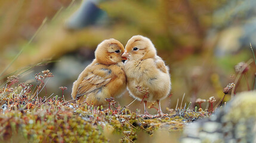
<path fill-rule="evenodd" d="M 127 79 L 124 72 L 124 46 L 116 39 L 98 44 L 95 59 L 73 83 L 72 98 L 82 103 L 105 105 L 106 98 L 122 95 Z"/>

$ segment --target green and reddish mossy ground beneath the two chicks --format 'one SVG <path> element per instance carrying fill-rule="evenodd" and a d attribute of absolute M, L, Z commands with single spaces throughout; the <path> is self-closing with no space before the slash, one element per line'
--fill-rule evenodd
<path fill-rule="evenodd" d="M 183 130 L 185 123 L 210 115 L 202 110 L 178 109 L 168 117 L 143 119 L 120 106 L 104 110 L 77 101 L 64 102 L 58 96 L 38 98 L 35 93 L 17 90 L 29 87 L 20 84 L 0 91 L 1 141 L 14 141 L 18 135 L 20 142 L 109 142 L 106 135 L 114 133 L 122 136 L 120 142 L 136 142 L 140 132 L 153 135 L 166 127 L 169 132 Z M 35 91 L 41 88 L 37 86 Z"/>

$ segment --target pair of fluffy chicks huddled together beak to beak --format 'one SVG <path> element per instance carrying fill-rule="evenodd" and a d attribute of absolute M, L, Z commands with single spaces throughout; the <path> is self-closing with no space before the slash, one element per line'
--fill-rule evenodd
<path fill-rule="evenodd" d="M 125 61 L 125 64 L 122 63 Z M 88 104 L 107 104 L 106 98 L 129 94 L 144 102 L 143 117 L 154 116 L 147 112 L 147 101 L 158 102 L 158 116 L 162 113 L 160 100 L 171 90 L 169 68 L 149 38 L 136 35 L 124 46 L 115 39 L 101 42 L 95 50 L 95 59 L 73 83 L 72 98 Z"/>

